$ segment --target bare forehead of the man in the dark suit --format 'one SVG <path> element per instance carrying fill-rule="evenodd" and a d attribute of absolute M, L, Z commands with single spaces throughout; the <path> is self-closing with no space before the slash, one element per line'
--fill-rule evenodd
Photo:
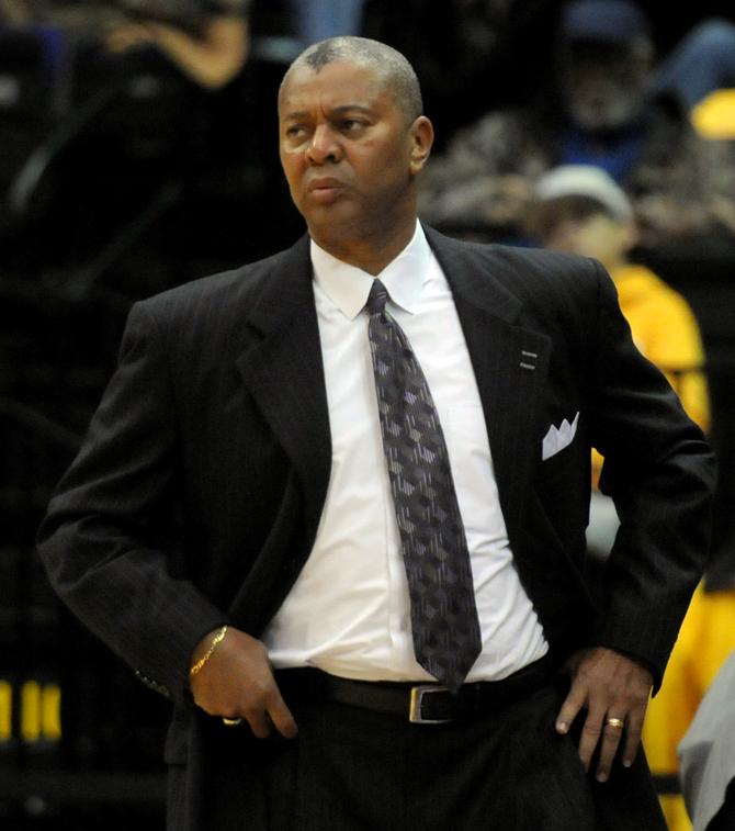
<path fill-rule="evenodd" d="M 352 60 L 335 60 L 321 69 L 293 67 L 279 96 L 279 115 L 313 109 L 380 108 L 394 103 L 385 77 L 374 67 Z"/>

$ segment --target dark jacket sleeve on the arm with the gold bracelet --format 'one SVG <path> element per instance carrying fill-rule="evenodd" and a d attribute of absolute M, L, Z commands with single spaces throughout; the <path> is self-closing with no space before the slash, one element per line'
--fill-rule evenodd
<path fill-rule="evenodd" d="M 184 703 L 191 653 L 226 616 L 177 574 L 180 456 L 162 340 L 136 304 L 117 370 L 37 546 L 52 585 L 81 621 L 144 683 Z"/>

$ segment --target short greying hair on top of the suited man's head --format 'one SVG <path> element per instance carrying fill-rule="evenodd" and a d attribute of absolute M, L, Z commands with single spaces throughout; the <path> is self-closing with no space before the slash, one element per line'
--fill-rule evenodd
<path fill-rule="evenodd" d="M 295 69 L 307 67 L 318 74 L 337 61 L 350 61 L 372 69 L 391 90 L 408 121 L 418 119 L 423 112 L 421 88 L 414 67 L 392 46 L 368 37 L 329 37 L 309 46 L 289 67 L 281 82 L 281 91 Z"/>

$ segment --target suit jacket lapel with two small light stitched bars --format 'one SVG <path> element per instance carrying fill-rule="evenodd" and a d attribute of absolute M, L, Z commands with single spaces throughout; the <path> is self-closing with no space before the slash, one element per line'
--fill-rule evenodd
<path fill-rule="evenodd" d="M 427 236 L 454 295 L 512 544 L 520 538 L 522 507 L 541 459 L 550 340 L 518 323 L 522 304 L 505 288 L 512 279 L 501 258 L 485 249 L 480 261 L 454 240 L 430 229 Z"/>

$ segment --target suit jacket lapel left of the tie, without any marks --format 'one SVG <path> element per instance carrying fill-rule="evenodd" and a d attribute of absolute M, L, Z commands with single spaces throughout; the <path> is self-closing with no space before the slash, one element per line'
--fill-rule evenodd
<path fill-rule="evenodd" d="M 248 322 L 261 337 L 239 356 L 237 368 L 303 484 L 312 539 L 329 483 L 331 438 L 308 238 L 273 268 Z"/>

